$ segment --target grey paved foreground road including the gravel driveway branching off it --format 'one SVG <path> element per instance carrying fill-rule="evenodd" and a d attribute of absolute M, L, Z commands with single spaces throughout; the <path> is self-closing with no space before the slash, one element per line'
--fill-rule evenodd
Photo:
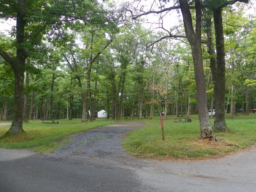
<path fill-rule="evenodd" d="M 0 191 L 256 191 L 255 148 L 196 162 L 127 155 L 125 132 L 143 126 L 117 123 L 78 133 L 54 154 L 0 149 Z"/>

